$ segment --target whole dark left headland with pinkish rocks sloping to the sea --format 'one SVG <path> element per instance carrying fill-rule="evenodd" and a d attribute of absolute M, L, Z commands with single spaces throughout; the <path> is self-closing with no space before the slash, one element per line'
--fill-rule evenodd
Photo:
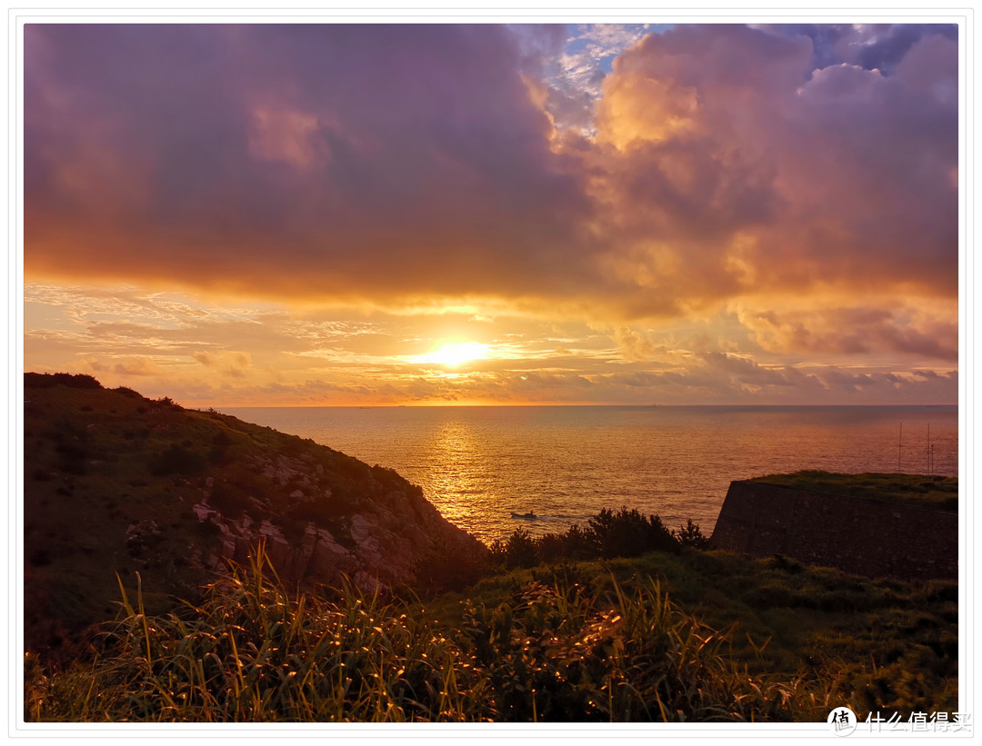
<path fill-rule="evenodd" d="M 312 441 L 87 376 L 27 374 L 25 399 L 28 648 L 111 618 L 117 574 L 163 611 L 260 542 L 299 589 L 453 585 L 486 556 L 396 472 Z"/>

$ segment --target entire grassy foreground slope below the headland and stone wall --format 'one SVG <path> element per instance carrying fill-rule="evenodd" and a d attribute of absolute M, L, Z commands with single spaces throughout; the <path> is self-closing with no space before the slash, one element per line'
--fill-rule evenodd
<path fill-rule="evenodd" d="M 771 594 L 764 598 L 761 588 Z M 39 721 L 824 720 L 954 711 L 953 584 L 686 549 L 493 574 L 463 594 L 296 596 L 261 554 L 197 604 L 120 618 Z M 756 594 L 756 595 L 755 595 Z"/>

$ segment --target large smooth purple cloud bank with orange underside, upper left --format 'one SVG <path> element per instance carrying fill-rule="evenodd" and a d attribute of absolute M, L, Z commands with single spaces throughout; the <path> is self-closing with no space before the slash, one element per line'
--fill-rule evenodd
<path fill-rule="evenodd" d="M 26 46 L 28 273 L 321 299 L 565 283 L 590 205 L 505 28 L 32 25 Z"/>

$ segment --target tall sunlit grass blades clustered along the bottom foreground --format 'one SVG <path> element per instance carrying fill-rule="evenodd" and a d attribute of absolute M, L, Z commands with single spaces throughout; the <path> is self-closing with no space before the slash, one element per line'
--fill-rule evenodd
<path fill-rule="evenodd" d="M 166 616 L 124 601 L 94 663 L 28 659 L 28 720 L 791 719 L 793 689 L 747 678 L 727 636 L 649 580 L 553 575 L 450 627 L 351 584 L 291 598 L 260 557 Z"/>

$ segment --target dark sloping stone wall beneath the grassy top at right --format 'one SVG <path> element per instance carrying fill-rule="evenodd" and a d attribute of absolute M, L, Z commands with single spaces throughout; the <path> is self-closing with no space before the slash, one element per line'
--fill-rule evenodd
<path fill-rule="evenodd" d="M 869 577 L 958 574 L 958 516 L 886 501 L 733 482 L 711 547 L 785 555 Z"/>

